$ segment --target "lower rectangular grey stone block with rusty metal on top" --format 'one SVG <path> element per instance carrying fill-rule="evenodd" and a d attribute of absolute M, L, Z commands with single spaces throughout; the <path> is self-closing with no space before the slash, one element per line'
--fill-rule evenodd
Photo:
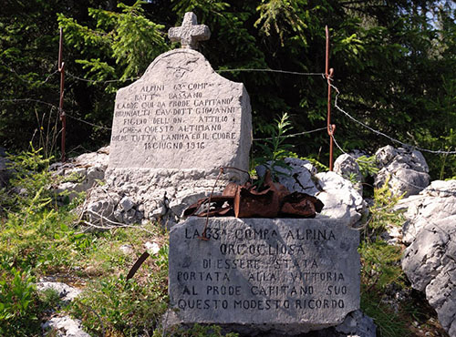
<path fill-rule="evenodd" d="M 204 223 L 171 229 L 171 321 L 297 334 L 358 310 L 359 234 L 346 222 L 211 219 L 200 240 Z"/>

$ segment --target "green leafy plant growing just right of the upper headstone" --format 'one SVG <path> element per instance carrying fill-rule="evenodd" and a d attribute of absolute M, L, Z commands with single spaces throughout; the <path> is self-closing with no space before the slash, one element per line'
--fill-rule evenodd
<path fill-rule="evenodd" d="M 279 176 L 287 175 L 286 171 L 291 168 L 285 162 L 285 158 L 295 157 L 295 153 L 291 151 L 293 146 L 285 142 L 285 134 L 293 127 L 288 120 L 288 114 L 284 113 L 280 119 L 275 119 L 275 126 L 272 128 L 271 138 L 265 138 L 264 144 L 257 143 L 261 148 L 261 157 L 256 158 L 255 162 L 259 166 L 271 171 L 271 178 L 276 181 Z M 259 179 L 259 186 L 264 182 L 264 177 Z"/>

